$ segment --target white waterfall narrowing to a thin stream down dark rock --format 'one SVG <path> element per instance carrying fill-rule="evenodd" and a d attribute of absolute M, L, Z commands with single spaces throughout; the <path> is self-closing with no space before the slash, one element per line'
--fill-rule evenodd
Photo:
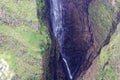
<path fill-rule="evenodd" d="M 63 28 L 63 19 L 62 19 L 62 4 L 61 0 L 51 0 L 50 1 L 50 6 L 51 6 L 51 21 L 52 21 L 52 29 L 55 37 L 58 40 L 59 46 L 60 46 L 60 52 L 62 59 L 65 63 L 65 66 L 67 68 L 67 72 L 69 75 L 69 79 L 72 80 L 73 76 L 71 74 L 70 68 L 68 66 L 68 62 L 64 57 L 64 52 L 62 50 L 62 44 L 63 44 L 63 39 L 64 39 L 64 28 Z"/>

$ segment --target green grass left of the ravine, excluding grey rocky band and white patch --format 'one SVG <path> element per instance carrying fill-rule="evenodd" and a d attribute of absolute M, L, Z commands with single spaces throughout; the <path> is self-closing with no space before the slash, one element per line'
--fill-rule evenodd
<path fill-rule="evenodd" d="M 19 20 L 38 23 L 35 0 L 0 0 L 0 9 Z M 39 80 L 42 74 L 42 53 L 47 44 L 46 29 L 41 34 L 26 25 L 15 28 L 0 22 L 0 59 L 5 59 L 13 80 Z"/>

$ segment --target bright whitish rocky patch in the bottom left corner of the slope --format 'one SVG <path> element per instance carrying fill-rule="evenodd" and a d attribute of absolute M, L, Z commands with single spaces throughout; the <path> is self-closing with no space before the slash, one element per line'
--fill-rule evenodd
<path fill-rule="evenodd" d="M 13 75 L 5 59 L 0 59 L 0 80 L 11 80 Z"/>

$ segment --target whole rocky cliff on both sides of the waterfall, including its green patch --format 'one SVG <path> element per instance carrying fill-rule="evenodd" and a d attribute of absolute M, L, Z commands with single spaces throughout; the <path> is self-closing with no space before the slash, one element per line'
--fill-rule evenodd
<path fill-rule="evenodd" d="M 47 80 L 69 80 L 66 66 L 60 55 L 58 40 L 54 36 L 50 17 L 50 2 L 46 2 L 47 20 L 51 37 L 49 72 Z M 73 80 L 94 80 L 91 74 L 96 67 L 96 57 L 103 46 L 109 43 L 117 24 L 119 9 L 114 0 L 63 0 L 62 19 L 64 41 L 62 49 L 67 58 Z M 51 74 L 51 75 L 49 75 Z M 90 75 L 91 74 L 91 75 Z M 48 76 L 49 75 L 49 76 Z M 91 78 L 87 78 L 91 77 Z"/>

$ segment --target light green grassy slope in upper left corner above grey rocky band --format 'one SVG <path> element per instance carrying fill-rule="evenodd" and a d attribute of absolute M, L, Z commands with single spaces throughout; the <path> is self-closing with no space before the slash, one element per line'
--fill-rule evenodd
<path fill-rule="evenodd" d="M 35 0 L 0 0 L 0 8 L 22 20 L 38 21 Z"/>

